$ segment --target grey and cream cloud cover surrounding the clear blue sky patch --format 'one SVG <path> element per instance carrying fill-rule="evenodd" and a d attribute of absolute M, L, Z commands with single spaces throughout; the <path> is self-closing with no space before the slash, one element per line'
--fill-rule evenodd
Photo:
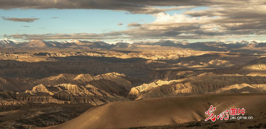
<path fill-rule="evenodd" d="M 266 34 L 266 1 L 152 1 L 152 0 L 0 0 L 1 9 L 109 9 L 132 14 L 151 14 L 152 23 L 130 23 L 128 30 L 101 34 L 14 34 L 22 39 L 215 39 L 262 37 Z M 164 8 L 158 8 L 164 6 Z M 166 7 L 171 6 L 171 7 Z M 192 9 L 205 6 L 204 9 Z M 166 11 L 187 9 L 182 14 Z M 14 20 L 13 20 L 14 21 Z"/>

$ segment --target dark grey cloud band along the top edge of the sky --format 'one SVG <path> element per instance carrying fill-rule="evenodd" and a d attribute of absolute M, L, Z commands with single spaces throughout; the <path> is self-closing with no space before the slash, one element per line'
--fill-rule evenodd
<path fill-rule="evenodd" d="M 0 0 L 0 9 L 108 9 L 123 10 L 130 13 L 152 14 L 191 8 L 192 6 L 232 5 L 232 4 L 257 4 L 265 3 L 257 1 L 218 1 L 218 0 Z M 153 6 L 177 6 L 173 8 L 155 8 Z M 184 7 L 182 7 L 184 6 Z M 188 7 L 186 7 L 188 6 Z"/>

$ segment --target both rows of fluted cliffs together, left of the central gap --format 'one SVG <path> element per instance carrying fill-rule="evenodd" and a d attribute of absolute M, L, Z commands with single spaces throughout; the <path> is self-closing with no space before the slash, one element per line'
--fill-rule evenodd
<path fill-rule="evenodd" d="M 127 101 L 125 96 L 133 87 L 130 80 L 134 81 L 119 73 L 98 76 L 59 74 L 33 81 L 32 85 L 39 85 L 32 90 L 17 93 L 5 91 L 0 92 L 0 96 L 9 102 L 80 103 L 96 106 L 113 101 Z M 20 87 L 22 86 L 17 88 Z"/>

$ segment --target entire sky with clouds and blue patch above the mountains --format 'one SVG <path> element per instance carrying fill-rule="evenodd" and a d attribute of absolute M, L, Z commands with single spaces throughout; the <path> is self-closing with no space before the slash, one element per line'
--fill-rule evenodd
<path fill-rule="evenodd" d="M 266 1 L 0 0 L 0 38 L 266 40 Z"/>

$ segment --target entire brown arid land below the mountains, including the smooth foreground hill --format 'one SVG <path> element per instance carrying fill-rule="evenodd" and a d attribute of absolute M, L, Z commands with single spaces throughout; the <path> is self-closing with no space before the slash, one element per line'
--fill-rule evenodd
<path fill-rule="evenodd" d="M 0 58 L 1 128 L 265 128 L 263 53 L 98 50 Z M 253 119 L 205 122 L 210 105 L 216 115 L 245 108 Z"/>

